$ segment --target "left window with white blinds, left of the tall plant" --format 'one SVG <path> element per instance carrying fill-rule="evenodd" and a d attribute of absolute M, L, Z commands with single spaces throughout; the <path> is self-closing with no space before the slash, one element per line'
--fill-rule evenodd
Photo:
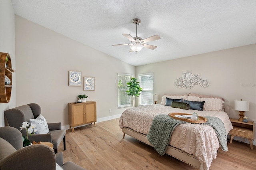
<path fill-rule="evenodd" d="M 127 83 L 132 78 L 132 74 L 118 73 L 118 108 L 130 107 L 133 105 L 132 97 L 128 96 L 126 91 L 129 90 Z"/>

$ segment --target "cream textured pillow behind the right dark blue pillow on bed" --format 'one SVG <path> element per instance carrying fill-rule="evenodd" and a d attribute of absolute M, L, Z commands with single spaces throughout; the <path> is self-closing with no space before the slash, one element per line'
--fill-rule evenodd
<path fill-rule="evenodd" d="M 204 111 L 221 111 L 224 101 L 218 98 L 202 98 L 196 96 L 188 96 L 189 101 L 204 101 Z"/>

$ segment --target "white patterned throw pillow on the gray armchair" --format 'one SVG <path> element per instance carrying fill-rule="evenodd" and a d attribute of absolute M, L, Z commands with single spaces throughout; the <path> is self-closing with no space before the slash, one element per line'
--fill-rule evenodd
<path fill-rule="evenodd" d="M 36 124 L 35 134 L 46 134 L 50 131 L 46 119 L 42 115 L 39 115 L 36 119 L 29 119 L 29 121 L 30 124 Z"/>

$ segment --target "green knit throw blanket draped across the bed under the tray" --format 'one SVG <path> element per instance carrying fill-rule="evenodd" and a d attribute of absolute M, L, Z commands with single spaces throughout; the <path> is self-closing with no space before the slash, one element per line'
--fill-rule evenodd
<path fill-rule="evenodd" d="M 206 118 L 207 122 L 201 124 L 209 125 L 214 128 L 220 142 L 220 147 L 222 150 L 228 151 L 228 140 L 224 123 L 218 117 Z M 174 128 L 182 123 L 188 122 L 173 119 L 169 115 L 156 115 L 150 127 L 147 138 L 160 155 L 165 154 Z"/>

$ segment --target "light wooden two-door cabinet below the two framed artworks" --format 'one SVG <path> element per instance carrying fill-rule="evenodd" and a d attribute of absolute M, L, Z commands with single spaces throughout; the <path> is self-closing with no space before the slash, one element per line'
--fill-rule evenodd
<path fill-rule="evenodd" d="M 74 127 L 96 122 L 96 102 L 86 101 L 83 103 L 68 103 L 68 121 L 72 132 Z"/>

